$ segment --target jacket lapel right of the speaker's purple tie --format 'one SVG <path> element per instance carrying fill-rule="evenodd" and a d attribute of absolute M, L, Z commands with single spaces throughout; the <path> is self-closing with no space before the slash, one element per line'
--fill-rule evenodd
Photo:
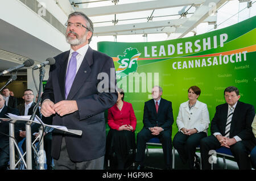
<path fill-rule="evenodd" d="M 76 95 L 76 92 L 79 91 L 82 85 L 84 85 L 85 80 L 90 75 L 90 71 L 91 71 L 90 66 L 92 64 L 93 64 L 93 50 L 92 48 L 88 47 L 88 50 L 84 56 L 84 60 L 82 60 L 82 64 L 79 70 L 77 71 L 71 90 L 69 91 L 67 100 L 72 100 L 72 98 Z"/>

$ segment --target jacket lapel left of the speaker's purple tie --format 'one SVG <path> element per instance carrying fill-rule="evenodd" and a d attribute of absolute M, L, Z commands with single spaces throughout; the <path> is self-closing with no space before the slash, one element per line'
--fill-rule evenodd
<path fill-rule="evenodd" d="M 66 71 L 67 71 L 67 66 L 68 66 L 68 57 L 69 57 L 69 52 L 64 52 L 63 57 L 60 59 L 60 67 L 59 67 L 59 85 L 60 85 L 60 92 L 62 95 L 62 98 L 65 100 L 65 77 L 66 77 Z"/>

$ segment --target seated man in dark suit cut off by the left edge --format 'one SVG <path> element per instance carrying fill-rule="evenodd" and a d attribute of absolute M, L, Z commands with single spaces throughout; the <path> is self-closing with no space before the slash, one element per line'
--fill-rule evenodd
<path fill-rule="evenodd" d="M 18 110 L 7 107 L 5 105 L 5 99 L 3 99 L 3 95 L 0 94 L 0 117 L 9 118 L 6 116 L 7 113 L 18 114 Z M 0 120 L 0 170 L 7 169 L 10 158 L 9 137 L 5 134 L 9 135 L 9 123 Z M 17 136 L 17 134 L 18 131 L 15 132 L 15 136 Z"/>

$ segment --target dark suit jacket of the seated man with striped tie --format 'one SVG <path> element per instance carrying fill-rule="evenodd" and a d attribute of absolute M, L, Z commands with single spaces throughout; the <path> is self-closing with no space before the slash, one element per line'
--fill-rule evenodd
<path fill-rule="evenodd" d="M 229 137 L 240 137 L 242 140 L 254 140 L 254 134 L 251 123 L 255 116 L 254 107 L 238 101 L 232 116 Z M 216 107 L 216 113 L 210 125 L 210 132 L 219 132 L 224 136 L 226 128 L 226 119 L 228 117 L 228 104 L 221 104 Z"/>

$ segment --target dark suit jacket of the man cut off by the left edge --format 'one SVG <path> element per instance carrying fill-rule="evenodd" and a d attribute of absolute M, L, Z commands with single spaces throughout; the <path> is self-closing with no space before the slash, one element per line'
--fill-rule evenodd
<path fill-rule="evenodd" d="M 7 113 L 13 113 L 15 115 L 19 115 L 19 111 L 17 109 L 4 106 L 3 110 L 0 112 L 0 117 L 1 118 L 9 118 L 8 116 L 6 116 Z M 5 122 L 5 121 L 0 122 L 0 132 L 9 135 L 9 123 L 8 122 Z M 0 133 L 0 149 L 9 145 L 9 137 L 5 136 L 2 133 Z M 18 136 L 18 129 L 15 128 L 15 137 L 16 136 Z"/>

